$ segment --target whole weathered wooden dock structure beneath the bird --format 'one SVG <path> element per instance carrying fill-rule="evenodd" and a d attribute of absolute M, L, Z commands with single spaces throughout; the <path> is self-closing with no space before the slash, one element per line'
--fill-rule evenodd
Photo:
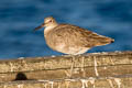
<path fill-rule="evenodd" d="M 2 59 L 0 88 L 132 88 L 132 52 Z"/>

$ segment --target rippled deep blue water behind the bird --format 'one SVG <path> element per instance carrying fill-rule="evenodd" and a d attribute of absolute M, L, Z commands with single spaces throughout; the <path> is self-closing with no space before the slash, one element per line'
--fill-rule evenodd
<path fill-rule="evenodd" d="M 0 59 L 62 55 L 33 32 L 48 15 L 116 40 L 88 53 L 132 51 L 132 0 L 0 0 Z"/>

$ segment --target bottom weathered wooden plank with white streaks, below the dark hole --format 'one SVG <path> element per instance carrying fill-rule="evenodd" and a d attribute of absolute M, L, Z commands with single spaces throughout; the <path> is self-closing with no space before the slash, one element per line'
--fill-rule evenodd
<path fill-rule="evenodd" d="M 132 88 L 132 77 L 99 77 L 1 82 L 0 88 Z"/>

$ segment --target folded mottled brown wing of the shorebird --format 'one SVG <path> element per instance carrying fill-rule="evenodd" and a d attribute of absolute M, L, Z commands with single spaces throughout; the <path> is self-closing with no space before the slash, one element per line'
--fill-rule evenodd
<path fill-rule="evenodd" d="M 105 45 L 110 40 L 109 37 L 70 24 L 61 24 L 61 26 L 55 28 L 53 35 L 57 43 L 65 43 L 69 46 L 94 47 Z"/>

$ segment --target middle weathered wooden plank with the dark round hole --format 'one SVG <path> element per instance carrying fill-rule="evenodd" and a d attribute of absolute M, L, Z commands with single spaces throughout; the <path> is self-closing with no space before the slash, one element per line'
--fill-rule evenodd
<path fill-rule="evenodd" d="M 132 74 L 132 65 L 117 65 L 117 66 L 101 66 L 97 67 L 99 77 L 112 77 Z M 4 73 L 0 74 L 0 81 L 11 81 L 14 79 L 61 79 L 68 78 L 69 69 L 56 70 L 36 70 L 36 72 L 21 72 L 21 73 Z M 74 68 L 73 76 L 77 77 L 97 77 L 95 67 Z"/>

